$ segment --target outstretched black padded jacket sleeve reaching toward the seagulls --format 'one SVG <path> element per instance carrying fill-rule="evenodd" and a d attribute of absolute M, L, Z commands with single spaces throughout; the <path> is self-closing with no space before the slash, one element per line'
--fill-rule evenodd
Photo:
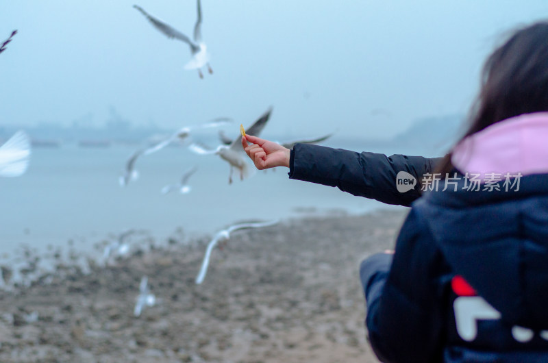
<path fill-rule="evenodd" d="M 386 204 L 410 206 L 421 196 L 421 178 L 425 173 L 432 173 L 439 160 L 296 144 L 291 151 L 289 178 L 336 186 L 351 195 Z M 396 175 L 400 171 L 416 179 L 414 189 L 398 192 Z"/>

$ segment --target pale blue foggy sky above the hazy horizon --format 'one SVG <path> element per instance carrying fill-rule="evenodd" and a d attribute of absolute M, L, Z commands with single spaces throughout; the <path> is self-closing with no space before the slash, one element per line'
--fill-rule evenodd
<path fill-rule="evenodd" d="M 202 0 L 213 75 L 132 5 L 192 35 L 196 1 L 0 2 L 0 126 L 71 125 L 114 105 L 136 124 L 217 116 L 264 136 L 387 137 L 418 118 L 465 114 L 507 29 L 548 17 L 546 0 Z"/>

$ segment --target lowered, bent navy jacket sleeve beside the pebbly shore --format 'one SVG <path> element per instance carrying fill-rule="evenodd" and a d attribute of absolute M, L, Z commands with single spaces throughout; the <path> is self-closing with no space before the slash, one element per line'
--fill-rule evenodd
<path fill-rule="evenodd" d="M 440 360 L 445 316 L 436 279 L 443 258 L 434 246 L 428 227 L 411 210 L 393 259 L 377 254 L 362 262 L 366 326 L 382 362 Z"/>

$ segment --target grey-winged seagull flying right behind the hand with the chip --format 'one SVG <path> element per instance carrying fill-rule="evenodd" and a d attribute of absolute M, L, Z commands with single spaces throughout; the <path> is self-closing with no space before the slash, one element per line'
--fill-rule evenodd
<path fill-rule="evenodd" d="M 258 136 L 266 122 L 269 121 L 270 115 L 272 113 L 272 108 L 269 108 L 260 118 L 258 118 L 251 127 L 247 129 L 247 133 L 250 135 Z M 242 144 L 240 142 L 241 136 L 232 140 L 230 145 L 219 145 L 216 149 L 209 149 L 205 145 L 199 144 L 197 142 L 192 142 L 188 149 L 190 151 L 200 154 L 200 155 L 219 155 L 223 160 L 230 164 L 230 174 L 228 177 L 228 184 L 232 184 L 232 172 L 234 168 L 237 168 L 240 171 L 240 179 L 243 180 L 245 177 L 251 175 L 251 169 L 249 164 L 247 164 L 247 156 L 242 149 Z"/>

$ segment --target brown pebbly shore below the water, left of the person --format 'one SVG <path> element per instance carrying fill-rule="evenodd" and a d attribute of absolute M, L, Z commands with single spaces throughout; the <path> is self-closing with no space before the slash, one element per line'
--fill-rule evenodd
<path fill-rule="evenodd" d="M 234 234 L 195 284 L 208 238 L 65 266 L 0 295 L 0 362 L 377 362 L 360 261 L 406 210 L 310 217 Z M 147 275 L 156 303 L 134 305 Z"/>

